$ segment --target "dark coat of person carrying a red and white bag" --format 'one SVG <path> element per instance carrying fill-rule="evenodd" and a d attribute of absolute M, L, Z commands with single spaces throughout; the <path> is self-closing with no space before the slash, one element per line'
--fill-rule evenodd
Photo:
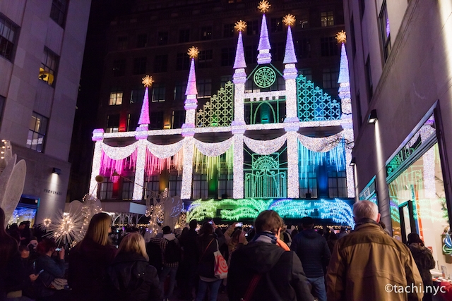
<path fill-rule="evenodd" d="M 225 243 L 225 238 L 222 235 L 221 230 L 217 229 L 213 234 L 199 235 L 197 243 L 199 258 L 198 275 L 201 277 L 214 279 L 215 256 L 213 255 L 213 253 L 218 251 L 219 247 L 223 243 Z"/>

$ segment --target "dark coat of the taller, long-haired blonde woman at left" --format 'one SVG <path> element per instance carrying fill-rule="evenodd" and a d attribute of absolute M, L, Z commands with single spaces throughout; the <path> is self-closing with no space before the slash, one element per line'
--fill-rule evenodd
<path fill-rule="evenodd" d="M 71 250 L 68 283 L 74 301 L 103 300 L 107 266 L 115 254 L 112 245 L 99 245 L 88 238 Z"/>

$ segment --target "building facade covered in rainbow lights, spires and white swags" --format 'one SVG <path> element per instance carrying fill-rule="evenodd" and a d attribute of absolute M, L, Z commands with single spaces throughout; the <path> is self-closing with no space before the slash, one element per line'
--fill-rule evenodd
<path fill-rule="evenodd" d="M 189 215 L 198 219 L 251 219 L 263 209 L 275 209 L 288 218 L 309 215 L 352 225 L 349 76 L 344 44 L 335 39 L 342 28 L 333 17 L 340 16 L 341 4 L 331 1 L 329 9 L 335 13 L 322 13 L 319 4 L 279 2 L 272 1 L 269 9 L 259 4 L 261 12 L 256 1 L 206 1 L 208 8 L 202 11 L 196 9 L 199 4 L 186 6 L 186 11 L 179 7 L 178 13 L 172 7 L 148 11 L 147 4 L 111 23 L 112 41 L 126 47 L 131 36 L 125 32 L 138 29 L 138 23 L 178 18 L 170 25 L 160 21 L 166 26 L 161 32 L 153 30 L 162 44 L 151 47 L 152 80 L 138 69 L 126 76 L 129 67 L 138 66 L 138 56 L 148 61 L 146 43 L 140 44 L 143 49 L 112 51 L 105 62 L 112 74 L 102 84 L 103 126 L 93 132 L 89 188 L 97 189 L 102 206 L 115 199 L 143 202 L 148 192 L 167 188 L 169 196 L 191 204 Z M 320 21 L 311 32 L 307 27 L 313 18 L 304 17 L 309 12 L 316 12 Z M 194 26 L 193 14 L 203 23 Z M 144 39 L 145 29 L 140 28 L 133 42 Z M 218 32 L 220 43 L 213 39 Z M 331 61 L 321 73 L 324 90 L 312 80 L 314 71 L 305 74 L 297 68 L 319 60 L 304 61 L 299 54 L 311 49 L 300 47 L 303 39 L 312 37 L 317 44 L 316 32 L 330 35 L 315 40 L 323 49 L 323 63 Z M 199 41 L 192 36 L 197 34 Z M 174 38 L 179 44 L 167 46 Z M 150 42 L 147 35 L 145 40 Z M 146 87 L 136 87 L 142 78 Z M 125 92 L 125 87 L 136 88 Z M 105 180 L 97 185 L 99 174 Z"/>

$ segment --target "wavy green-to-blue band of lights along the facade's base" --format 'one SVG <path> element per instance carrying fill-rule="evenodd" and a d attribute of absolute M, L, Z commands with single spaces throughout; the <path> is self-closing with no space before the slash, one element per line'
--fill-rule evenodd
<path fill-rule="evenodd" d="M 228 209 L 234 208 L 234 209 Z M 275 210 L 285 219 L 331 219 L 334 223 L 355 227 L 351 204 L 343 199 L 198 199 L 187 209 L 187 221 L 220 217 L 227 221 L 255 219 L 263 210 Z M 220 211 L 220 215 L 217 213 Z"/>

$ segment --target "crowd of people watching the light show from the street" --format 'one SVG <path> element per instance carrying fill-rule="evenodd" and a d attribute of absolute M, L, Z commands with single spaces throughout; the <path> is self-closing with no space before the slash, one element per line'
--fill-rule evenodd
<path fill-rule="evenodd" d="M 435 262 L 419 235 L 408 245 L 388 235 L 376 204 L 357 202 L 356 226 L 340 233 L 314 229 L 305 217 L 286 226 L 262 211 L 251 228 L 219 228 L 192 220 L 174 233 L 150 238 L 132 229 L 111 240 L 112 219 L 99 213 L 75 247 L 65 250 L 30 223 L 0 227 L 0 301 L 3 300 L 432 300 L 422 292 L 388 292 L 385 285 L 432 285 Z M 5 214 L 0 208 L 0 223 Z M 144 234 L 144 235 L 143 235 Z M 227 278 L 215 274 L 222 254 Z"/>

